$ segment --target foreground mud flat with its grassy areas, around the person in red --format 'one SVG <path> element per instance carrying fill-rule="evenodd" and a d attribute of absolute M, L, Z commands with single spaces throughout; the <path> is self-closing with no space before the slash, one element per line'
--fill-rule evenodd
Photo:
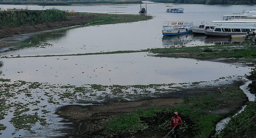
<path fill-rule="evenodd" d="M 169 132 L 169 121 L 172 111 L 180 110 L 183 121 L 181 137 L 196 137 L 193 133 L 198 124 L 191 118 L 193 115 L 184 113 L 186 107 L 192 108 L 190 113 L 198 111 L 203 116 L 218 116 L 216 121 L 236 111 L 248 101 L 239 86 L 242 81 L 218 86 L 196 87 L 171 93 L 162 93 L 158 98 L 144 98 L 136 101 L 118 101 L 109 99 L 99 105 L 67 105 L 60 107 L 56 114 L 72 122 L 65 137 L 165 137 Z M 152 115 L 142 115 L 153 111 Z M 109 123 L 113 118 L 124 114 L 139 114 L 143 129 L 110 130 Z M 196 114 L 196 113 L 195 113 Z M 199 116 L 202 117 L 202 115 Z M 200 129 L 199 129 L 200 131 Z M 201 130 L 202 131 L 202 130 Z M 208 136 L 212 133 L 208 131 Z"/>

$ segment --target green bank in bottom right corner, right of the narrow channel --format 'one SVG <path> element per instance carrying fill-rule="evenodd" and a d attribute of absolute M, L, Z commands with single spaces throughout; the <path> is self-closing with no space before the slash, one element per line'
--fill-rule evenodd
<path fill-rule="evenodd" d="M 235 138 L 247 136 L 253 137 L 256 133 L 256 102 L 249 103 L 245 110 L 235 117 L 231 117 L 229 123 L 225 125 L 222 133 L 216 138 Z"/>

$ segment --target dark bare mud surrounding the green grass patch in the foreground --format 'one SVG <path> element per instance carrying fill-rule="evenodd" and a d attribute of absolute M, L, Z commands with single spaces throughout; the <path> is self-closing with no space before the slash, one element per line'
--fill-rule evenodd
<path fill-rule="evenodd" d="M 198 88 L 198 89 L 185 89 L 172 93 L 162 94 L 159 98 L 148 98 L 140 101 L 130 101 L 130 102 L 105 102 L 102 105 L 68 105 L 63 106 L 56 111 L 56 114 L 64 117 L 65 119 L 70 119 L 72 122 L 71 127 L 74 129 L 65 130 L 68 135 L 65 137 L 86 137 L 86 138 L 142 138 L 142 137 L 165 137 L 169 131 L 158 130 L 158 125 L 163 123 L 166 119 L 171 118 L 171 114 L 166 112 L 161 112 L 155 117 L 140 118 L 142 121 L 147 123 L 149 126 L 146 130 L 137 133 L 118 133 L 118 134 L 106 134 L 104 133 L 102 126 L 107 122 L 109 118 L 115 117 L 123 113 L 129 113 L 131 111 L 136 111 L 138 109 L 148 109 L 150 107 L 169 107 L 173 105 L 179 105 L 183 102 L 183 98 L 188 97 L 204 97 L 213 96 L 214 101 L 219 102 L 221 107 L 215 110 L 205 109 L 207 114 L 218 114 L 226 115 L 229 111 L 238 110 L 242 105 L 248 101 L 247 97 L 244 95 L 242 97 L 233 97 L 223 99 L 221 91 L 219 88 L 229 88 L 233 86 L 240 86 L 242 82 L 234 82 L 229 85 L 217 86 L 214 88 Z M 203 93 L 198 93 L 203 92 Z M 188 118 L 180 115 L 183 121 L 189 124 L 187 130 L 182 132 L 181 138 L 189 138 L 193 135 L 193 122 Z"/>

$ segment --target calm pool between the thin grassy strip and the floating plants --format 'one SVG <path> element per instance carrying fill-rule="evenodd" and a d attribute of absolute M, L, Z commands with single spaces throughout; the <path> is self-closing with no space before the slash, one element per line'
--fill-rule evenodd
<path fill-rule="evenodd" d="M 150 57 L 147 53 L 91 56 L 3 58 L 1 77 L 52 84 L 148 85 L 213 81 L 251 70 L 187 58 Z"/>

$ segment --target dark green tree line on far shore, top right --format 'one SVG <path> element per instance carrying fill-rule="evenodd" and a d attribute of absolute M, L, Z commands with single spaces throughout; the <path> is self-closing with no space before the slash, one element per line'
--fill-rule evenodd
<path fill-rule="evenodd" d="M 184 4 L 256 4 L 255 0 L 151 0 L 155 3 L 184 3 Z"/>

